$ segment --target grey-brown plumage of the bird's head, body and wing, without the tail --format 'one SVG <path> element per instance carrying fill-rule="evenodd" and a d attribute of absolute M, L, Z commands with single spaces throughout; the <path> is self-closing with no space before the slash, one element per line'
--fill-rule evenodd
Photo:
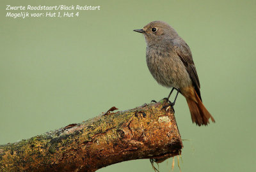
<path fill-rule="evenodd" d="M 152 27 L 162 29 L 159 34 L 144 34 L 147 42 L 147 65 L 152 76 L 164 87 L 180 89 L 193 84 L 200 97 L 200 82 L 186 42 L 165 22 L 151 22 L 143 30 L 147 31 Z"/>

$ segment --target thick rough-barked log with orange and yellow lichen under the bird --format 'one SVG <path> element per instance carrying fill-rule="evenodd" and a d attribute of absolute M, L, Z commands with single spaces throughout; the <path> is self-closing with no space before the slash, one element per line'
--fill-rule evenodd
<path fill-rule="evenodd" d="M 0 145 L 0 171 L 96 171 L 132 159 L 162 162 L 182 148 L 173 110 L 162 110 L 164 105 L 162 100 L 108 111 L 81 124 Z"/>

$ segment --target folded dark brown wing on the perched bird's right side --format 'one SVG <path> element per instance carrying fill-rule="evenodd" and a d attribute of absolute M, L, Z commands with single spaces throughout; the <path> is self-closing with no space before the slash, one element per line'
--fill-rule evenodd
<path fill-rule="evenodd" d="M 186 70 L 188 71 L 189 76 L 192 80 L 193 86 L 195 87 L 196 93 L 202 100 L 200 94 L 200 82 L 196 73 L 196 67 L 192 59 L 190 48 L 183 40 L 179 40 L 173 43 L 173 51 L 180 57 L 180 60 L 186 67 Z"/>

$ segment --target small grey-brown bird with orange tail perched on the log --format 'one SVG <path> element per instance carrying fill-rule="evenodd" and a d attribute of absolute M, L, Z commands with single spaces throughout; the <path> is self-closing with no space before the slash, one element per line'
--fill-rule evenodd
<path fill-rule="evenodd" d="M 147 43 L 146 61 L 154 79 L 164 87 L 172 88 L 166 99 L 174 106 L 178 94 L 182 94 L 188 103 L 192 122 L 198 126 L 215 122 L 211 113 L 202 103 L 200 82 L 196 73 L 191 50 L 179 34 L 163 21 L 153 21 L 143 29 L 134 29 L 144 35 Z M 172 102 L 169 98 L 177 90 Z"/>

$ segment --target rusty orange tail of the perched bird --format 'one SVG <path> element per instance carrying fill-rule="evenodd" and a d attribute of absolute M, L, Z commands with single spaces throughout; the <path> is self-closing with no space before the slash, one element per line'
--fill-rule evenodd
<path fill-rule="evenodd" d="M 212 115 L 207 111 L 204 104 L 196 94 L 195 89 L 191 90 L 189 96 L 186 96 L 186 100 L 188 102 L 189 111 L 191 113 L 191 118 L 193 123 L 195 122 L 196 125 L 207 125 L 209 124 L 209 118 L 211 118 L 212 122 L 215 122 Z"/>

